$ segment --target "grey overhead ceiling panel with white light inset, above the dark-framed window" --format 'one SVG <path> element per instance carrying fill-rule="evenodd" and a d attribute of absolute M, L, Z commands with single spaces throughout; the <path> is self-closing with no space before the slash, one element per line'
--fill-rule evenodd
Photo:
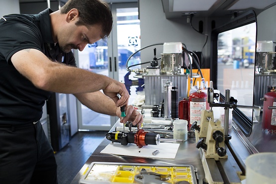
<path fill-rule="evenodd" d="M 167 18 L 232 16 L 254 10 L 258 15 L 263 10 L 276 5 L 276 0 L 162 0 Z"/>

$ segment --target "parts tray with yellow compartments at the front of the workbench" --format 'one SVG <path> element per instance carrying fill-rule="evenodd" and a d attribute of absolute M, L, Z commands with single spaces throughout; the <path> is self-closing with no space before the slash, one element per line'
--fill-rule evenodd
<path fill-rule="evenodd" d="M 80 179 L 80 184 L 139 184 L 134 177 L 141 170 L 171 175 L 164 183 L 177 184 L 181 181 L 197 184 L 194 168 L 191 165 L 153 165 L 136 163 L 93 162 Z"/>

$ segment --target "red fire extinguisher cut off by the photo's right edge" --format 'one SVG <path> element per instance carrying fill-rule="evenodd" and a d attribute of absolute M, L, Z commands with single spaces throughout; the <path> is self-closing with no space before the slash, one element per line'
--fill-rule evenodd
<path fill-rule="evenodd" d="M 265 94 L 262 129 L 266 132 L 276 133 L 276 89 L 275 87 Z M 275 107 L 273 107 L 275 106 Z"/>

